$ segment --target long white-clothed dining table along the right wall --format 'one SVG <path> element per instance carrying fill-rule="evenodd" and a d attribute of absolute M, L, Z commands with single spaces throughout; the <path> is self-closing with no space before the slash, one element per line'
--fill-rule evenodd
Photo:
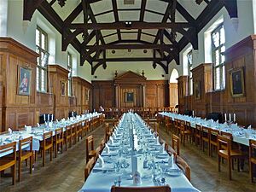
<path fill-rule="evenodd" d="M 166 116 L 172 120 L 180 119 L 188 121 L 192 128 L 195 128 L 195 125 L 203 125 L 218 131 L 229 132 L 233 136 L 233 142 L 240 143 L 246 146 L 249 146 L 249 140 L 256 140 L 256 130 L 251 128 L 243 128 L 237 124 L 228 124 L 226 122 L 219 123 L 218 121 L 213 121 L 212 119 L 201 119 L 200 117 L 191 117 L 189 115 L 170 113 L 170 112 L 161 112 L 161 116 Z"/>

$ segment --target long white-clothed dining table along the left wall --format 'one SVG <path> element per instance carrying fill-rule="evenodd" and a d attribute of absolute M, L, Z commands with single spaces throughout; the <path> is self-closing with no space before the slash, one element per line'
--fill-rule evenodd
<path fill-rule="evenodd" d="M 86 113 L 81 114 L 76 117 L 71 117 L 68 119 L 61 119 L 60 121 L 46 122 L 45 124 L 38 125 L 37 127 L 26 126 L 25 129 L 20 131 L 9 131 L 0 135 L 0 146 L 8 143 L 16 142 L 16 150 L 19 150 L 19 140 L 22 138 L 32 137 L 32 150 L 38 151 L 40 148 L 40 142 L 43 141 L 44 133 L 53 131 L 53 136 L 55 136 L 55 129 L 63 128 L 63 131 L 66 131 L 68 125 L 73 125 L 81 121 L 94 118 L 99 118 L 102 113 Z M 29 128 L 29 129 L 28 129 Z M 22 149 L 28 148 L 28 145 L 22 146 Z M 12 153 L 12 151 L 6 151 L 0 153 L 0 157 L 3 157 L 7 154 Z"/>

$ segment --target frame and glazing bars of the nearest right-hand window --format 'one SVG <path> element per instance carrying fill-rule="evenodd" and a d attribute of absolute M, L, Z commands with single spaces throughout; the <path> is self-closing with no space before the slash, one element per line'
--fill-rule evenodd
<path fill-rule="evenodd" d="M 225 90 L 226 86 L 226 77 L 225 77 L 225 61 L 222 61 L 223 52 L 221 51 L 223 47 L 225 47 L 225 41 L 223 44 L 221 44 L 221 29 L 224 29 L 224 23 L 219 24 L 217 27 L 215 27 L 211 32 L 211 41 L 212 41 L 212 87 L 214 91 L 220 91 Z M 218 47 L 215 47 L 214 41 L 213 41 L 213 33 L 219 34 L 218 38 Z M 218 51 L 218 65 L 216 65 L 216 51 Z M 219 68 L 219 88 L 217 89 L 216 86 L 216 70 Z"/>

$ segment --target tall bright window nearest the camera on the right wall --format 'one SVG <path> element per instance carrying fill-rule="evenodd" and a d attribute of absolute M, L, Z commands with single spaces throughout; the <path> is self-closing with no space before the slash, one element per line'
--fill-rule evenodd
<path fill-rule="evenodd" d="M 212 32 L 212 71 L 214 90 L 225 88 L 225 51 L 224 26 L 221 24 Z"/>

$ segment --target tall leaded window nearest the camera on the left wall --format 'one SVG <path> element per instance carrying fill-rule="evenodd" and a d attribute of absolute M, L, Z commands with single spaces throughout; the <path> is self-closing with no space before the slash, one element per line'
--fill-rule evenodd
<path fill-rule="evenodd" d="M 36 45 L 38 56 L 37 66 L 37 90 L 46 92 L 47 84 L 47 65 L 48 65 L 48 37 L 47 33 L 37 27 L 36 30 Z"/>

